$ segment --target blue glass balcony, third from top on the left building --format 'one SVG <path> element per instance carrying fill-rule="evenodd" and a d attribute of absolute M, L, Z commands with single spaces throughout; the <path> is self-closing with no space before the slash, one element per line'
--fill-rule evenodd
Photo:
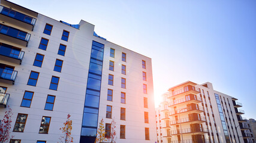
<path fill-rule="evenodd" d="M 0 58 L 3 60 L 11 62 L 19 61 L 19 64 L 22 64 L 24 53 L 25 52 L 21 51 L 20 48 L 0 43 Z"/>

